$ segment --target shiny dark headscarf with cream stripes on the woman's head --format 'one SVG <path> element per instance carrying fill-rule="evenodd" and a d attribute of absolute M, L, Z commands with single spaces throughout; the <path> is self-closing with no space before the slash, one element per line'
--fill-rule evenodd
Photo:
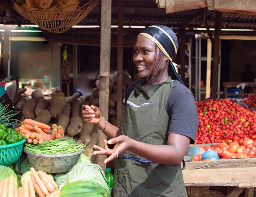
<path fill-rule="evenodd" d="M 153 25 L 144 29 L 143 32 L 138 35 L 138 37 L 140 36 L 147 37 L 158 46 L 158 48 L 166 55 L 170 62 L 170 76 L 173 80 L 179 80 L 180 83 L 184 85 L 182 79 L 178 75 L 177 67 L 172 63 L 178 50 L 177 36 L 172 31 L 172 29 L 163 25 Z"/>

